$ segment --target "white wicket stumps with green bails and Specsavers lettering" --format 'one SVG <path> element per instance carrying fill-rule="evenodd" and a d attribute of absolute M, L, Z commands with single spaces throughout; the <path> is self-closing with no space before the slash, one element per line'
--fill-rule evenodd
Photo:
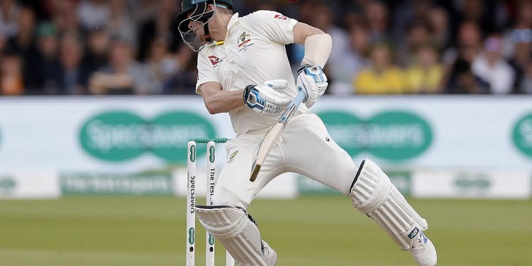
<path fill-rule="evenodd" d="M 187 145 L 187 266 L 194 266 L 194 244 L 196 242 L 196 143 L 207 144 L 206 205 L 212 205 L 216 165 L 214 164 L 216 143 L 226 143 L 226 138 L 194 138 Z M 205 265 L 214 266 L 214 237 L 206 234 Z M 226 266 L 234 266 L 235 260 L 226 251 Z"/>

